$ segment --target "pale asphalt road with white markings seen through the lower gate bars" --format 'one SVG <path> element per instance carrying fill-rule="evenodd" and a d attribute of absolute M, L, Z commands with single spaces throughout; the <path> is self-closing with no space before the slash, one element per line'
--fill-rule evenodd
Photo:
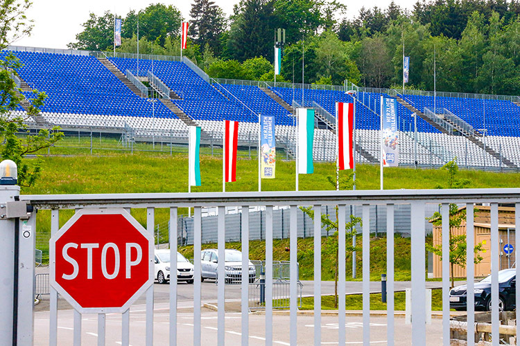
<path fill-rule="evenodd" d="M 180 303 L 180 307 L 187 302 Z M 135 304 L 130 311 L 130 345 L 145 345 L 146 311 L 144 305 Z M 298 345 L 313 345 L 313 316 L 298 316 Z M 98 336 L 98 320 L 96 315 L 85 314 L 82 317 L 82 345 L 96 345 Z M 155 305 L 154 313 L 154 345 L 168 345 L 169 337 L 168 304 Z M 289 345 L 289 316 L 273 316 L 273 344 Z M 204 310 L 202 312 L 202 345 L 216 345 L 217 313 Z M 322 316 L 322 345 L 338 345 L 338 317 Z M 363 323 L 361 317 L 347 317 L 347 345 L 362 345 Z M 121 345 L 121 314 L 110 313 L 106 316 L 107 346 Z M 395 319 L 395 345 L 411 345 L 411 326 L 406 325 L 404 318 Z M 71 345 L 73 336 L 73 311 L 64 310 L 58 313 L 58 345 Z M 433 320 L 426 326 L 426 345 L 442 345 L 442 321 Z M 370 319 L 370 343 L 372 345 L 387 344 L 386 318 Z M 241 344 L 241 315 L 226 313 L 225 315 L 226 345 Z M 177 313 L 177 345 L 193 344 L 193 313 Z M 249 344 L 265 345 L 265 316 L 249 315 Z M 35 343 L 49 345 L 49 311 L 35 313 Z"/>

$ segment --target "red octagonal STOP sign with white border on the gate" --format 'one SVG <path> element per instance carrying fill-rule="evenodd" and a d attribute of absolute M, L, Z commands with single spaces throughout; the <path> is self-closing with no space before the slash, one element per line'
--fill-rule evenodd
<path fill-rule="evenodd" d="M 153 284 L 153 250 L 125 210 L 79 210 L 49 242 L 51 286 L 81 313 L 124 312 Z"/>

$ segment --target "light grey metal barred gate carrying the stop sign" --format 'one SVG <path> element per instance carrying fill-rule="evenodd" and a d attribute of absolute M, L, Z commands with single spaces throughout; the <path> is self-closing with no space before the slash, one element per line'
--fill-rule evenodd
<path fill-rule="evenodd" d="M 157 208 L 168 208 L 170 212 L 171 224 L 173 228 L 171 232 L 177 232 L 177 208 L 191 207 L 194 209 L 194 265 L 195 265 L 195 282 L 193 285 L 193 345 L 202 345 L 202 325 L 205 319 L 202 319 L 204 312 L 201 310 L 202 296 L 201 296 L 201 258 L 200 252 L 202 249 L 201 243 L 201 208 L 204 207 L 218 207 L 218 253 L 219 257 L 223 257 L 225 251 L 225 207 L 241 206 L 243 210 L 242 216 L 242 253 L 243 253 L 243 273 L 248 275 L 248 257 L 249 249 L 249 230 L 250 217 L 248 206 L 265 206 L 266 208 L 266 291 L 265 291 L 265 329 L 261 330 L 258 326 L 250 329 L 250 307 L 249 307 L 249 283 L 243 280 L 241 283 L 241 329 L 240 335 L 241 345 L 248 345 L 250 343 L 250 332 L 255 334 L 261 333 L 262 340 L 265 339 L 265 345 L 273 344 L 273 336 L 277 338 L 284 338 L 286 340 L 284 345 L 306 345 L 311 344 L 311 340 L 299 339 L 300 332 L 303 331 L 299 323 L 302 316 L 298 315 L 298 301 L 297 295 L 298 283 L 297 280 L 289 280 L 288 295 L 290 305 L 290 316 L 288 317 L 288 331 L 284 335 L 279 336 L 274 334 L 273 325 L 279 322 L 279 316 L 273 314 L 273 222 L 272 212 L 273 206 L 290 206 L 288 212 L 290 213 L 290 277 L 297 276 L 297 210 L 298 206 L 313 206 L 315 212 L 314 223 L 315 233 L 313 260 L 314 260 L 314 275 L 321 277 L 322 272 L 322 237 L 321 237 L 321 223 L 320 214 L 322 212 L 321 206 L 338 206 L 339 208 L 339 234 L 338 234 L 338 266 L 340 284 L 338 285 L 338 334 L 337 340 L 339 345 L 345 345 L 351 338 L 351 333 L 347 334 L 347 328 L 344 327 L 345 320 L 345 208 L 347 204 L 358 204 L 363 209 L 363 316 L 360 317 L 360 323 L 363 328 L 363 344 L 369 345 L 370 340 L 373 340 L 371 334 L 371 316 L 370 316 L 370 206 L 378 205 L 386 209 L 386 224 L 387 224 L 387 275 L 388 275 L 388 307 L 387 307 L 387 340 L 388 345 L 399 344 L 399 341 L 404 336 L 403 331 L 396 333 L 395 319 L 394 319 L 394 237 L 392 234 L 395 230 L 394 211 L 395 206 L 410 205 L 410 227 L 411 234 L 411 289 L 412 289 L 412 328 L 410 340 L 413 345 L 426 345 L 427 338 L 431 338 L 428 334 L 428 327 L 426 326 L 425 304 L 426 298 L 426 278 L 425 278 L 425 235 L 424 235 L 424 217 L 425 206 L 427 204 L 441 204 L 442 205 L 442 246 L 443 257 L 449 257 L 449 203 L 460 203 L 467 205 L 467 282 L 468 282 L 468 334 L 474 334 L 474 266 L 473 266 L 473 251 L 474 251 L 474 205 L 475 203 L 490 203 L 491 206 L 491 273 L 492 273 L 492 345 L 499 345 L 499 203 L 507 203 L 516 207 L 516 224 L 520 224 L 520 189 L 481 189 L 481 190 L 383 190 L 383 191 L 341 191 L 341 192 L 259 192 L 259 193 L 201 193 L 201 194 L 82 194 L 82 195 L 21 195 L 21 201 L 29 201 L 33 206 L 40 209 L 51 210 L 51 232 L 55 234 L 59 229 L 60 210 L 77 210 L 78 208 L 125 208 L 126 210 L 144 209 L 146 210 L 146 226 L 150 233 L 154 229 L 154 215 Z M 63 221 L 63 220 L 62 220 Z M 2 221 L 4 222 L 4 221 Z M 29 219 L 28 224 L 35 223 L 35 215 Z M 520 244 L 520 233 L 515 235 L 517 244 Z M 177 251 L 177 242 L 175 237 L 170 237 L 171 253 Z M 22 244 L 22 243 L 20 243 Z M 31 242 L 24 243 L 20 248 L 20 255 L 29 258 L 34 256 L 34 249 L 31 248 Z M 34 244 L 32 244 L 34 246 Z M 31 248 L 31 251 L 27 251 Z M 516 251 L 518 251 L 516 249 Z M 176 256 L 172 256 L 173 267 L 176 266 Z M 21 257 L 22 259 L 22 257 Z M 53 264 L 51 264 L 53 265 Z M 26 269 L 26 268 L 24 268 Z M 218 273 L 224 276 L 224 262 L 218 262 Z M 24 272 L 26 273 L 26 272 Z M 517 275 L 520 273 L 520 268 L 517 267 Z M 23 277 L 26 274 L 23 274 Z M 449 262 L 442 263 L 442 342 L 439 335 L 435 334 L 435 338 L 439 340 L 439 344 L 449 345 Z M 169 304 L 164 309 L 168 314 L 168 333 L 154 334 L 154 315 L 157 313 L 154 309 L 154 291 L 153 288 L 146 292 L 146 327 L 143 332 L 146 334 L 145 345 L 177 345 L 177 340 L 182 334 L 177 329 L 177 279 L 175 275 L 171 278 L 172 282 L 169 286 Z M 31 286 L 31 285 L 30 285 Z M 322 338 L 329 334 L 322 333 L 322 308 L 321 308 L 321 293 L 322 282 L 315 280 L 314 286 L 314 310 L 313 310 L 313 345 L 321 345 Z M 19 290 L 24 291 L 24 294 L 19 294 L 19 313 L 18 318 L 27 318 L 31 320 L 33 313 L 32 299 L 28 302 L 27 287 L 19 286 Z M 218 282 L 218 312 L 217 312 L 217 327 L 212 327 L 216 333 L 214 345 L 224 345 L 226 334 L 225 318 L 226 313 L 223 309 L 225 306 L 225 282 L 220 280 Z M 20 292 L 20 291 L 19 291 Z M 520 304 L 520 295 L 517 295 L 516 303 Z M 25 298 L 24 298 L 25 297 Z M 24 298 L 24 299 L 22 299 Z M 162 313 L 164 313 L 162 311 Z M 46 336 L 49 337 L 49 345 L 58 345 L 58 295 L 56 291 L 51 289 L 50 292 L 50 323 L 49 328 L 42 331 L 41 328 L 36 330 L 33 336 L 32 325 L 28 326 L 25 323 L 23 326 L 19 324 L 18 330 L 18 345 L 32 345 L 34 339 L 41 342 Z M 139 313 L 132 311 L 132 314 Z M 121 315 L 121 331 L 116 331 L 114 327 L 110 327 L 110 335 L 114 333 L 121 333 L 121 345 L 136 345 L 130 340 L 130 310 L 125 311 Z M 518 316 L 518 312 L 517 312 Z M 4 317 L 5 318 L 5 317 Z M 105 336 L 107 335 L 107 327 L 105 324 L 105 314 L 98 315 L 98 333 L 95 334 L 98 338 L 98 345 L 105 345 Z M 362 321 L 362 322 L 361 322 Z M 84 321 L 83 321 L 84 322 Z M 41 327 L 41 324 L 40 324 Z M 229 327 L 229 324 L 228 326 Z M 119 327 L 118 327 L 119 328 Z M 70 329 L 70 328 L 69 328 Z M 204 329 L 205 333 L 209 332 Z M 91 333 L 92 334 L 92 333 Z M 63 335 L 62 335 L 63 336 Z M 71 332 L 71 340 L 67 344 L 80 345 L 82 339 L 82 316 L 77 311 L 73 313 L 73 328 Z M 398 336 L 398 337 L 397 337 Z M 435 340 L 437 340 L 435 339 Z M 21 340 L 21 341 L 20 341 Z M 64 343 L 60 338 L 60 344 Z M 119 343 L 119 342 L 118 342 Z M 178 343 L 179 345 L 181 343 Z M 473 345 L 469 340 L 468 345 Z"/>

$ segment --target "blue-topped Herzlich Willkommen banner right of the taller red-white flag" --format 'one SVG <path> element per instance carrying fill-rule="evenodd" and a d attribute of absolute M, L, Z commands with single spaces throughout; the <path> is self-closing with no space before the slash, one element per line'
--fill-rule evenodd
<path fill-rule="evenodd" d="M 399 131 L 397 130 L 397 100 L 382 98 L 381 158 L 384 167 L 399 166 Z"/>

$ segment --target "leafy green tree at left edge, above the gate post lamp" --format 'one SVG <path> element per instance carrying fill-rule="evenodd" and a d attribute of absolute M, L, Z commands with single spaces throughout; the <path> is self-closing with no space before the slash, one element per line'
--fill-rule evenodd
<path fill-rule="evenodd" d="M 5 36 L 0 38 L 0 50 L 6 48 L 12 39 L 20 35 L 31 33 L 31 24 L 26 21 L 25 10 L 31 6 L 28 1 L 3 1 L 0 3 L 0 30 Z M 15 83 L 14 76 L 18 75 L 21 63 L 15 55 L 8 54 L 0 60 L 0 156 L 2 160 L 12 160 L 18 167 L 18 185 L 31 186 L 42 170 L 42 158 L 36 160 L 26 158 L 29 154 L 53 145 L 62 138 L 63 134 L 58 127 L 51 131 L 40 130 L 37 134 L 30 134 L 26 120 L 40 116 L 46 94 L 33 90 L 34 98 L 29 99 L 30 105 L 25 116 L 15 113 L 21 100 L 25 96 Z M 26 132 L 26 136 L 19 137 L 19 132 Z"/>

